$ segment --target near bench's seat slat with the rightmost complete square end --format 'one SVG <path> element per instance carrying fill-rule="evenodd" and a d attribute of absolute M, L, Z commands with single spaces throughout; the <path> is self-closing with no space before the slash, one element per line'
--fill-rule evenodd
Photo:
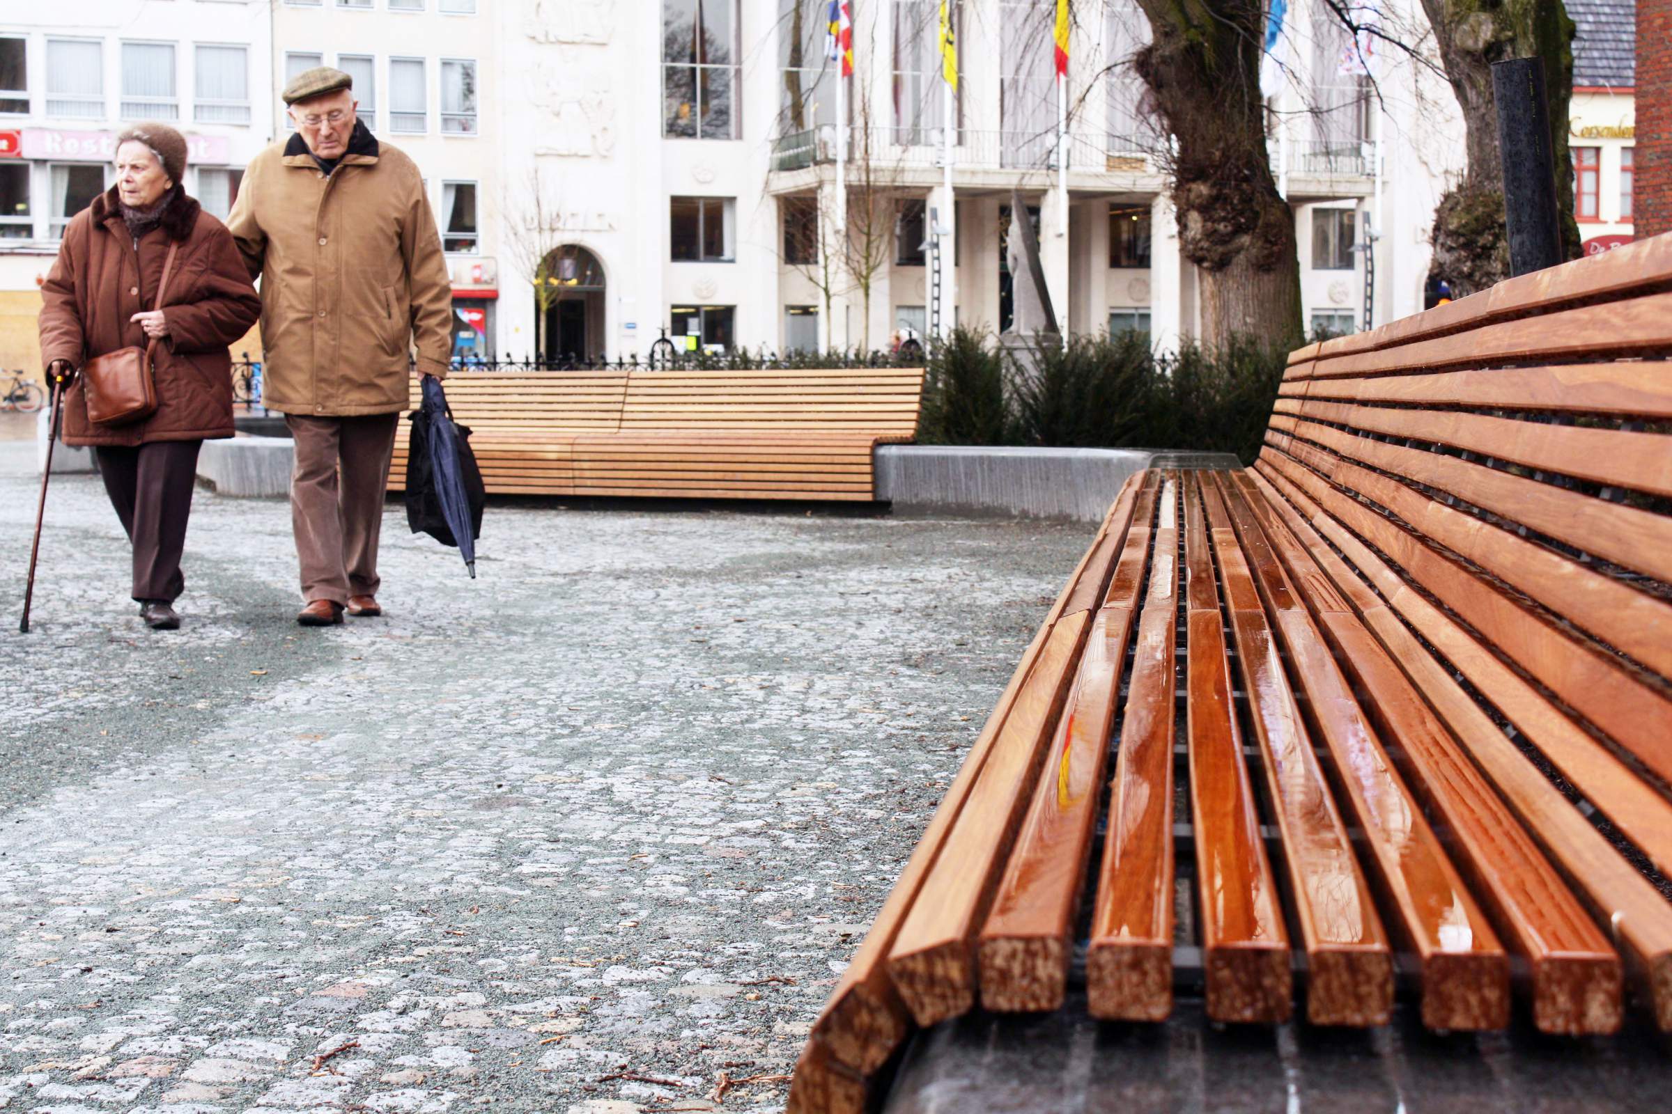
<path fill-rule="evenodd" d="M 1236 483 L 1267 536 L 1281 538 L 1277 549 L 1296 575 L 1302 596 L 1313 593 L 1311 570 L 1321 570 L 1331 583 L 1358 583 L 1311 526 L 1267 503 L 1246 474 L 1239 474 Z M 1384 610 L 1379 600 L 1373 600 L 1371 615 Z M 1398 740 L 1408 783 L 1436 815 L 1453 863 L 1468 875 L 1471 892 L 1491 910 L 1508 944 L 1527 959 L 1538 1029 L 1615 1032 L 1622 1020 L 1618 957 L 1578 900 L 1423 703 L 1389 651 L 1369 633 L 1361 615 L 1333 611 L 1314 618 L 1369 698 L 1386 737 Z"/>

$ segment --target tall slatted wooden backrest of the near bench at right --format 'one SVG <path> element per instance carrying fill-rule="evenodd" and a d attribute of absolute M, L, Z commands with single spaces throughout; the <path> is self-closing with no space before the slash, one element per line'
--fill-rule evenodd
<path fill-rule="evenodd" d="M 1299 349 L 1257 468 L 1672 782 L 1672 235 Z"/>

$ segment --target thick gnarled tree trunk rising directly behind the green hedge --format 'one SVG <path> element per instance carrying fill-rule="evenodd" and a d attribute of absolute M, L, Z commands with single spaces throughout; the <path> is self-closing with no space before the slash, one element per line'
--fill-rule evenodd
<path fill-rule="evenodd" d="M 1266 154 L 1262 0 L 1139 0 L 1152 28 L 1134 60 L 1177 140 L 1179 247 L 1199 267 L 1209 344 L 1301 337 L 1294 214 Z"/>

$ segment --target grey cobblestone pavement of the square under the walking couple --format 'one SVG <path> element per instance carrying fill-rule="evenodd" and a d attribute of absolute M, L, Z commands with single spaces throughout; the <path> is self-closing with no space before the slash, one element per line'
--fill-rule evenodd
<path fill-rule="evenodd" d="M 199 493 L 149 633 L 97 479 L 0 446 L 0 1107 L 777 1111 L 1088 526 L 391 506 L 390 616 L 294 625 Z"/>

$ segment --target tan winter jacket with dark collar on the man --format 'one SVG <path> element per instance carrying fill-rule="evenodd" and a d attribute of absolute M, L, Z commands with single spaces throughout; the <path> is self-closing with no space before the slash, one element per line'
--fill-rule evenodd
<path fill-rule="evenodd" d="M 406 409 L 418 371 L 446 376 L 453 291 L 418 167 L 356 124 L 326 177 L 303 137 L 249 162 L 227 217 L 261 276 L 261 401 L 303 416 Z"/>

